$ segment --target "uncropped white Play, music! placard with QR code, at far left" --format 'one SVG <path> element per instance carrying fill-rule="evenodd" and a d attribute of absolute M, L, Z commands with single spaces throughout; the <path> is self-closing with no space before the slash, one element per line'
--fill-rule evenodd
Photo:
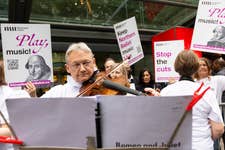
<path fill-rule="evenodd" d="M 1 24 L 6 81 L 11 87 L 53 82 L 49 24 Z M 28 63 L 30 60 L 30 63 Z"/>

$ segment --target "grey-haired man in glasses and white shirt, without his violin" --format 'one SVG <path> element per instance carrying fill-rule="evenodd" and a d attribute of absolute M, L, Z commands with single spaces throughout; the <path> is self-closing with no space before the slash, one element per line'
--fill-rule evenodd
<path fill-rule="evenodd" d="M 52 87 L 41 97 L 76 97 L 83 82 L 96 72 L 96 63 L 91 49 L 83 42 L 73 43 L 65 54 L 65 68 L 71 78 L 64 85 Z"/>

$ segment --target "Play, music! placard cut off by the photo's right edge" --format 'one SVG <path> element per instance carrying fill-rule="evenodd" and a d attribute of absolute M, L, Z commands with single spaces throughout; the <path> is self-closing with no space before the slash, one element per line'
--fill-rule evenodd
<path fill-rule="evenodd" d="M 225 54 L 224 10 L 224 0 L 199 0 L 191 49 Z"/>

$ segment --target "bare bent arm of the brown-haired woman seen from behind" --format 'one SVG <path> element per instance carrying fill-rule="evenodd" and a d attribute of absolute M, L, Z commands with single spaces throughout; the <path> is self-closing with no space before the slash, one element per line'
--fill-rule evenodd
<path fill-rule="evenodd" d="M 224 133 L 224 124 L 221 122 L 215 122 L 209 119 L 209 124 L 211 125 L 212 139 L 216 140 L 222 136 Z"/>

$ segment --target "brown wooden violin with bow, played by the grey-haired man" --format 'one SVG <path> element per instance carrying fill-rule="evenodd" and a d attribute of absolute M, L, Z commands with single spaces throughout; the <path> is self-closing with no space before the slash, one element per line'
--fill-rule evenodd
<path fill-rule="evenodd" d="M 123 63 L 119 64 L 109 73 L 95 71 L 92 77 L 83 83 L 80 88 L 80 96 L 94 96 L 94 95 L 125 95 L 131 93 L 138 96 L 153 96 L 152 93 L 142 93 L 140 91 L 130 89 L 130 84 L 126 76 L 112 79 L 109 75 L 121 67 Z"/>

